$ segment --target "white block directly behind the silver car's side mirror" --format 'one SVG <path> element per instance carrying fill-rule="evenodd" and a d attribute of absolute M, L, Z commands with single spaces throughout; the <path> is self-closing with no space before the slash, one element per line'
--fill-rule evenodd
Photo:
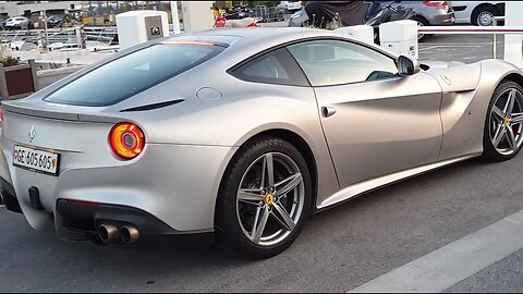
<path fill-rule="evenodd" d="M 417 22 L 404 20 L 380 24 L 379 42 L 399 56 L 417 59 Z"/>

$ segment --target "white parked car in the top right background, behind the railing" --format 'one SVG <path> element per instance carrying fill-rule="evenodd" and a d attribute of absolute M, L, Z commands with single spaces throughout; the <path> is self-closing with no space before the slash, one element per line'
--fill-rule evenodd
<path fill-rule="evenodd" d="M 454 23 L 492 25 L 495 16 L 504 15 L 506 1 L 452 1 Z"/>

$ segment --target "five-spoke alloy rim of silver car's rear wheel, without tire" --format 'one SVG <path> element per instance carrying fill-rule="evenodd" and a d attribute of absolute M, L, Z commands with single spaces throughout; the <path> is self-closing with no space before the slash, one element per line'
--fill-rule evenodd
<path fill-rule="evenodd" d="M 305 184 L 289 156 L 268 152 L 251 163 L 236 193 L 236 217 L 243 234 L 255 245 L 282 243 L 304 209 Z"/>

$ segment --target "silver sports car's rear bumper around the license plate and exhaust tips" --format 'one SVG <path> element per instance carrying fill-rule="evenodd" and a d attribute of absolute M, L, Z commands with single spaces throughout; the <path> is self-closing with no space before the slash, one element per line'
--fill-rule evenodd
<path fill-rule="evenodd" d="M 50 176 L 13 167 L 12 146 L 3 139 L 0 156 L 8 208 L 23 212 L 35 230 L 54 230 L 64 240 L 84 240 L 106 219 L 144 228 L 143 235 L 214 232 L 217 191 L 235 150 L 149 144 L 138 160 L 112 167 L 95 160 L 85 161 L 92 166 L 73 164 L 74 158 L 63 154 L 63 168 Z M 32 197 L 33 187 L 38 197 Z M 97 206 L 78 207 L 75 201 Z"/>

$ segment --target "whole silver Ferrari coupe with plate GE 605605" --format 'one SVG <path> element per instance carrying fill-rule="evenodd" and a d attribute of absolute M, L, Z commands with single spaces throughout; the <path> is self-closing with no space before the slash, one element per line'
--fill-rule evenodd
<path fill-rule="evenodd" d="M 2 102 L 2 195 L 64 240 L 217 233 L 272 256 L 309 213 L 518 154 L 523 73 L 500 60 L 434 64 L 325 29 L 151 40 Z"/>

